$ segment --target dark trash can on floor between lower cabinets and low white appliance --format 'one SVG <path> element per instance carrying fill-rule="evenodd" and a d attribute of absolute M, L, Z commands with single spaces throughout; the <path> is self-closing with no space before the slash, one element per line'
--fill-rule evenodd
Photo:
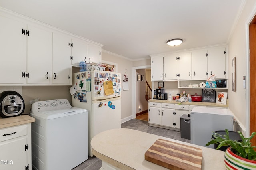
<path fill-rule="evenodd" d="M 180 137 L 190 140 L 190 117 L 186 114 L 180 117 Z"/>

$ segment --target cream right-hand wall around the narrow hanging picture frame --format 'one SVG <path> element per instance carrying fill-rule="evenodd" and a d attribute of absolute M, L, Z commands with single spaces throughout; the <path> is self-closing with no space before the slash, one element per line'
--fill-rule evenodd
<path fill-rule="evenodd" d="M 230 83 L 228 83 L 228 95 L 229 95 L 229 108 L 232 110 L 237 120 L 241 123 L 242 130 L 246 130 L 246 136 L 249 133 L 249 113 L 246 113 L 248 109 L 248 97 L 250 94 L 246 94 L 246 89 L 243 88 L 243 76 L 246 76 L 247 85 L 249 84 L 249 74 L 247 72 L 247 57 L 248 57 L 248 28 L 246 24 L 248 20 L 252 18 L 252 13 L 255 13 L 256 1 L 246 0 L 239 20 L 234 27 L 234 31 L 228 42 L 228 77 L 230 77 Z M 236 92 L 232 91 L 232 59 L 236 57 Z M 247 86 L 248 87 L 248 86 Z"/>

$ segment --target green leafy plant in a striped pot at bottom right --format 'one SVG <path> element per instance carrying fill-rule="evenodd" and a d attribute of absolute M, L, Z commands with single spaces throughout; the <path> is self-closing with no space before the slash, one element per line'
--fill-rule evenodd
<path fill-rule="evenodd" d="M 220 135 L 214 133 L 214 139 L 206 144 L 218 144 L 216 149 L 222 146 L 230 146 L 224 154 L 224 164 L 226 169 L 246 169 L 246 170 L 256 170 L 256 151 L 252 146 L 250 140 L 256 135 L 253 132 L 249 138 L 245 138 L 242 132 L 238 131 L 238 134 L 242 141 L 236 141 L 229 138 L 228 129 L 225 129 L 226 134 Z"/>

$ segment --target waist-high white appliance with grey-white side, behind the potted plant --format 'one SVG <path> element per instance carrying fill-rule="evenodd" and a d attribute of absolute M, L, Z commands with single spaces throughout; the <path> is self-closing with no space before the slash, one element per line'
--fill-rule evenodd
<path fill-rule="evenodd" d="M 228 129 L 233 131 L 234 116 L 230 109 L 194 107 L 190 115 L 191 143 L 205 146 L 212 132 Z M 213 144 L 205 146 L 214 148 Z"/>

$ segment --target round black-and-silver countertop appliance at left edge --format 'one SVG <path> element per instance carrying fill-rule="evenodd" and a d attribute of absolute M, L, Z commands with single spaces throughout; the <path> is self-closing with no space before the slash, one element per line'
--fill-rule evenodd
<path fill-rule="evenodd" d="M 16 91 L 4 91 L 0 94 L 0 116 L 2 118 L 21 115 L 25 104 L 22 96 Z"/>

